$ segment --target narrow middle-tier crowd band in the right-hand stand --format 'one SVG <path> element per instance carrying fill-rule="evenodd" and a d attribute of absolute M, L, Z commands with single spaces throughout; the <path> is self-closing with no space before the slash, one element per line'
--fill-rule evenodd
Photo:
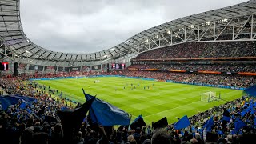
<path fill-rule="evenodd" d="M 256 72 L 256 66 L 253 64 L 230 64 L 230 65 L 223 65 L 223 64 L 211 64 L 211 65 L 193 65 L 193 64 L 147 64 L 147 65 L 131 65 L 129 68 L 136 68 L 136 69 L 158 69 L 158 70 L 192 70 L 192 71 L 219 71 L 219 72 Z"/>

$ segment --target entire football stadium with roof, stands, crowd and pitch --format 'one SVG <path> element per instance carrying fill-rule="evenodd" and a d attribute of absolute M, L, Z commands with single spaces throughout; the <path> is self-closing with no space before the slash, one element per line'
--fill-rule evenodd
<path fill-rule="evenodd" d="M 34 43 L 20 3 L 0 0 L 1 143 L 254 143 L 256 1 L 93 53 Z"/>

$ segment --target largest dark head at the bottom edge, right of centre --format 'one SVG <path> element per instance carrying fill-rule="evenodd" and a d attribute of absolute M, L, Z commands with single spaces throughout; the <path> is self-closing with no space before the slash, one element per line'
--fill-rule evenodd
<path fill-rule="evenodd" d="M 157 131 L 151 139 L 152 144 L 171 144 L 170 141 L 170 134 L 168 134 L 166 131 Z"/>

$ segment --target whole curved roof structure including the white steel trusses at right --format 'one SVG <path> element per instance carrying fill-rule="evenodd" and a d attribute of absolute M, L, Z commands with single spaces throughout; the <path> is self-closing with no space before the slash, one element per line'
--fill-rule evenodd
<path fill-rule="evenodd" d="M 15 62 L 24 63 L 47 62 L 48 65 L 100 62 L 182 42 L 218 41 L 225 34 L 231 35 L 231 38 L 226 40 L 255 40 L 256 31 L 256 2 L 250 0 L 154 26 L 106 50 L 90 54 L 72 54 L 48 50 L 26 37 L 22 30 L 19 0 L 0 0 L 0 10 L 2 58 L 8 57 Z M 241 37 L 242 34 L 247 34 L 248 37 Z"/>

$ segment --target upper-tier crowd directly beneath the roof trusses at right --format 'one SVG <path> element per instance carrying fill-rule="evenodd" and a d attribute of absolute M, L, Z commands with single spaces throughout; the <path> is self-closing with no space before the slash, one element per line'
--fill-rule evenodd
<path fill-rule="evenodd" d="M 134 59 L 168 58 L 237 58 L 255 57 L 256 43 L 241 42 L 187 42 L 146 51 Z"/>

